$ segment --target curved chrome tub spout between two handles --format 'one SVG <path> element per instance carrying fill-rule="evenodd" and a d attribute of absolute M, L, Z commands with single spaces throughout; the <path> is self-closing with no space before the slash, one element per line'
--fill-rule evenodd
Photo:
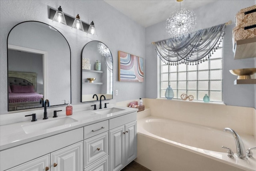
<path fill-rule="evenodd" d="M 224 128 L 223 131 L 225 131 L 225 132 L 229 131 L 230 133 L 232 133 L 232 135 L 236 141 L 236 157 L 238 157 L 239 159 L 247 160 L 244 143 L 243 143 L 242 139 L 240 138 L 240 136 L 233 129 L 230 129 L 230 128 Z"/>

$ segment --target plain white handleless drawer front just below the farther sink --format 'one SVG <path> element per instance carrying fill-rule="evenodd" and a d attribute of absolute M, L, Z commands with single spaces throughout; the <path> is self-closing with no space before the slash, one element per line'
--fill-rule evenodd
<path fill-rule="evenodd" d="M 115 117 L 113 119 L 109 119 L 109 130 L 125 125 L 126 123 L 136 121 L 136 119 L 137 119 L 137 112 L 133 112 L 127 115 L 122 115 L 119 117 Z"/>

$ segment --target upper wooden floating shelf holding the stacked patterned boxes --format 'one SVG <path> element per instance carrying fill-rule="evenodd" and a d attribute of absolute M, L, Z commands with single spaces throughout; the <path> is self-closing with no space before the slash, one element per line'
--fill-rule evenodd
<path fill-rule="evenodd" d="M 245 59 L 256 57 L 256 37 L 237 40 L 234 49 L 234 59 Z"/>

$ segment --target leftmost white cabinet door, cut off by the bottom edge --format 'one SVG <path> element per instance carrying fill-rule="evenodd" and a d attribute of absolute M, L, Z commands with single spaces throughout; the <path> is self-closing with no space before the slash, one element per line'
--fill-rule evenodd
<path fill-rule="evenodd" d="M 50 154 L 28 161 L 6 171 L 48 171 L 50 170 Z"/>

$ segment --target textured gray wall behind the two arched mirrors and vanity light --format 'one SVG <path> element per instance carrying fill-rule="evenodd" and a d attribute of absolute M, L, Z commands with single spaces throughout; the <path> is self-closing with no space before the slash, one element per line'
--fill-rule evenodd
<path fill-rule="evenodd" d="M 62 10 L 69 16 L 79 14 L 86 23 L 94 21 L 98 37 L 87 36 L 79 30 L 71 30 L 69 26 L 52 23 L 48 19 L 48 8 Z M 118 89 L 116 101 L 145 97 L 144 83 L 118 82 L 118 50 L 145 58 L 145 28 L 114 9 L 102 0 L 22 0 L 0 1 L 0 113 L 7 112 L 7 47 L 9 31 L 16 24 L 36 20 L 50 24 L 58 29 L 68 40 L 71 48 L 72 104 L 80 103 L 80 54 L 82 47 L 92 41 L 105 43 L 113 56 L 114 89 Z M 136 87 L 129 91 L 130 87 Z"/>

